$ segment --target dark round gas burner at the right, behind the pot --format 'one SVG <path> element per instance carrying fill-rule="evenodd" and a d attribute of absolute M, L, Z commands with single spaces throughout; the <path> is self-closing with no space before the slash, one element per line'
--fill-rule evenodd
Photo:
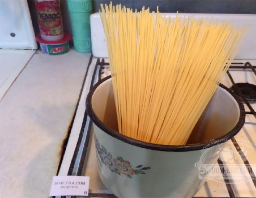
<path fill-rule="evenodd" d="M 246 83 L 235 83 L 235 86 L 243 93 L 245 99 L 247 99 L 250 102 L 255 102 L 256 101 L 256 86 L 253 84 L 250 84 L 248 82 Z M 236 91 L 236 88 L 234 85 L 230 87 L 230 89 L 236 93 L 238 96 L 240 94 Z"/>

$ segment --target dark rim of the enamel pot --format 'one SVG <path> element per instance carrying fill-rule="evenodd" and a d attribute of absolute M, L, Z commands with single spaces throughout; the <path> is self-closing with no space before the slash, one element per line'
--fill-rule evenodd
<path fill-rule="evenodd" d="M 207 141 L 207 142 L 202 142 L 202 143 L 196 143 L 196 144 L 186 144 L 186 145 L 165 145 L 165 144 L 154 144 L 154 143 L 148 143 L 148 142 L 143 142 L 140 140 L 136 140 L 131 137 L 127 137 L 125 135 L 122 135 L 121 133 L 109 128 L 108 126 L 104 125 L 103 122 L 96 116 L 95 112 L 93 111 L 92 108 L 92 96 L 100 84 L 102 84 L 104 81 L 108 80 L 111 78 L 111 75 L 99 80 L 89 91 L 87 98 L 86 98 L 86 112 L 88 113 L 89 117 L 92 119 L 92 121 L 95 123 L 96 126 L 98 126 L 102 131 L 107 133 L 108 135 L 121 140 L 122 142 L 138 146 L 141 148 L 145 149 L 150 149 L 150 150 L 158 150 L 158 151 L 193 151 L 193 150 L 201 150 L 201 149 L 206 149 L 210 148 L 216 144 L 224 143 L 227 140 L 231 139 L 234 137 L 243 127 L 245 123 L 245 108 L 241 100 L 237 95 L 235 95 L 230 89 L 228 89 L 226 86 L 223 84 L 220 84 L 219 86 L 223 89 L 225 89 L 228 93 L 230 93 L 233 98 L 236 100 L 239 106 L 239 119 L 236 123 L 236 125 L 228 131 L 225 135 L 215 138 L 213 140 Z"/>

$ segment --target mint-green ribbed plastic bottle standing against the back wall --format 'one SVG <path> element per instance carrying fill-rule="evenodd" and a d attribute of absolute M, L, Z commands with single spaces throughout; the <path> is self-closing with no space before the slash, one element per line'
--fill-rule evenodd
<path fill-rule="evenodd" d="M 75 50 L 81 53 L 89 53 L 92 51 L 90 30 L 92 1 L 67 0 L 67 3 Z"/>

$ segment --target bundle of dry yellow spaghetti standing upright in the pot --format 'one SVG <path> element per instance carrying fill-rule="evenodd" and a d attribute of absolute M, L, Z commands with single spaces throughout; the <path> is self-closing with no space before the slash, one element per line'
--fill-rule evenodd
<path fill-rule="evenodd" d="M 186 144 L 245 28 L 101 6 L 119 132 L 150 143 Z"/>

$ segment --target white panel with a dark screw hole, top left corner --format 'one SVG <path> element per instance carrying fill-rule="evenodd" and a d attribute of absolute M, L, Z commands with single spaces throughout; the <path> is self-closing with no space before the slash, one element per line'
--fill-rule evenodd
<path fill-rule="evenodd" d="M 37 49 L 27 0 L 1 0 L 0 13 L 0 48 Z"/>

